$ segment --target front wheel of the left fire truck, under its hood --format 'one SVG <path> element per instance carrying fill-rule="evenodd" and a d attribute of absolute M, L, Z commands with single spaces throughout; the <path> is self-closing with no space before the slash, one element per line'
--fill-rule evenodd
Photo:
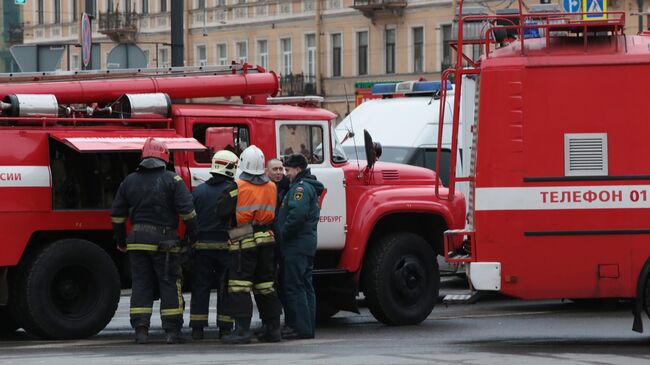
<path fill-rule="evenodd" d="M 379 239 L 367 253 L 362 285 L 368 308 L 379 321 L 393 326 L 421 323 L 440 290 L 433 248 L 409 232 Z"/>

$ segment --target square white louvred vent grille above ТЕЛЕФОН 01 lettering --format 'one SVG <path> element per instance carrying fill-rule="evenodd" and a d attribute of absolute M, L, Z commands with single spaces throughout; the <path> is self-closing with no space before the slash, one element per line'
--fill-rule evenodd
<path fill-rule="evenodd" d="M 606 176 L 607 133 L 564 135 L 565 176 Z"/>

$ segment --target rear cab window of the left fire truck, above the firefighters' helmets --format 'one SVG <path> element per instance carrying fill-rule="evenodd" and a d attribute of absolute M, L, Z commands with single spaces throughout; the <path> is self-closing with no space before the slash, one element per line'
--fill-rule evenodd
<path fill-rule="evenodd" d="M 199 164 L 211 163 L 212 155 L 220 150 L 239 156 L 250 145 L 248 127 L 242 125 L 195 124 L 192 137 L 208 148 L 194 152 L 194 161 Z"/>

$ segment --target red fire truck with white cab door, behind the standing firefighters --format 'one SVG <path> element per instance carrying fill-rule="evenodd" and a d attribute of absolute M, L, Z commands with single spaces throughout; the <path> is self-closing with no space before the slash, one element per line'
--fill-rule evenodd
<path fill-rule="evenodd" d="M 2 330 L 75 338 L 110 321 L 128 273 L 108 210 L 147 137 L 174 151 L 170 168 L 190 187 L 208 176 L 215 150 L 255 144 L 267 158 L 304 153 L 327 189 L 315 260 L 320 314 L 357 310 L 359 291 L 387 324 L 419 323 L 431 312 L 443 232 L 464 226 L 462 194 L 448 197 L 433 171 L 375 163 L 370 136 L 371 157 L 348 161 L 333 113 L 266 102 L 278 92 L 274 73 L 244 65 L 207 75 L 24 78 L 0 84 Z M 206 97 L 242 102 L 170 101 Z"/>

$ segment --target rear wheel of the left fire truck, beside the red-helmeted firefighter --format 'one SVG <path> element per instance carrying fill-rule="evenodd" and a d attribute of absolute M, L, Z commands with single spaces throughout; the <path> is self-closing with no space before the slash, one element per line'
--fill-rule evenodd
<path fill-rule="evenodd" d="M 49 338 L 88 337 L 106 327 L 120 299 L 110 256 L 81 239 L 63 239 L 37 255 L 26 277 L 29 314 Z"/>

